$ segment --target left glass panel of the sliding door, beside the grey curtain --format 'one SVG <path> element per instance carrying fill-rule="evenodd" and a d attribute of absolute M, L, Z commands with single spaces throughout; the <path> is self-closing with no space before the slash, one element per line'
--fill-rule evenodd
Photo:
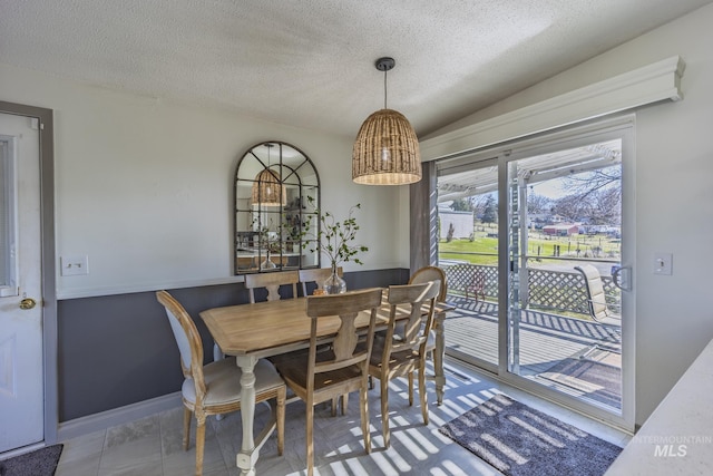
<path fill-rule="evenodd" d="M 478 157 L 441 167 L 438 186 L 439 265 L 458 307 L 448 327 L 448 352 L 498 370 L 498 162 Z M 478 319 L 473 319 L 478 315 Z"/>

